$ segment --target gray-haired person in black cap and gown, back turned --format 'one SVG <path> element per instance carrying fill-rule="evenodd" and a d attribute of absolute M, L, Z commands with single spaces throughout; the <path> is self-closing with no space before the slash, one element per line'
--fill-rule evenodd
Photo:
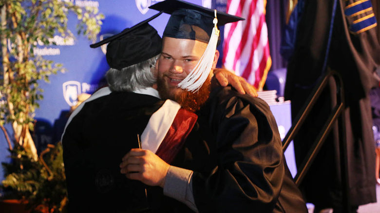
<path fill-rule="evenodd" d="M 155 189 L 126 179 L 118 165 L 128 150 L 140 146 L 137 134 L 143 134 L 165 103 L 153 88 L 160 51 L 161 37 L 147 23 L 109 43 L 109 87 L 96 91 L 73 112 L 62 135 L 69 212 L 152 208 L 147 197 Z"/>

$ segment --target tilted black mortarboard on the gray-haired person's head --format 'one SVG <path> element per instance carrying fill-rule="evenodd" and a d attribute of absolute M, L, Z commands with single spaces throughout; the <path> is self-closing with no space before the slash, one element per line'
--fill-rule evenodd
<path fill-rule="evenodd" d="M 103 39 L 91 48 L 107 45 L 106 58 L 108 65 L 115 69 L 122 69 L 158 55 L 162 49 L 162 40 L 157 31 L 148 24 L 162 12 L 124 29 L 121 33 Z"/>

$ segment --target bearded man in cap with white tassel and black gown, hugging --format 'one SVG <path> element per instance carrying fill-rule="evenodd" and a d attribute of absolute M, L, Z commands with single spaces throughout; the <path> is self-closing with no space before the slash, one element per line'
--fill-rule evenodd
<path fill-rule="evenodd" d="M 121 173 L 160 186 L 180 201 L 168 202 L 171 212 L 307 212 L 269 106 L 210 78 L 219 57 L 210 48 L 214 11 L 179 0 L 151 8 L 171 14 L 156 63 L 160 96 L 178 101 L 198 120 L 171 165 L 149 150 L 132 149 L 123 157 Z M 219 12 L 217 17 L 218 24 L 239 20 Z M 211 61 L 204 60 L 210 53 Z M 206 68 L 191 82 L 197 67 Z M 201 86 L 191 88 L 203 77 Z"/>

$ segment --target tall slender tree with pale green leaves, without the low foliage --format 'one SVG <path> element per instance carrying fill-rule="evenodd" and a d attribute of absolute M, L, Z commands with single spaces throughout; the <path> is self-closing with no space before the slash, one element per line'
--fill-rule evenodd
<path fill-rule="evenodd" d="M 81 9 L 68 0 L 0 0 L 0 128 L 10 149 L 15 141 L 35 160 L 38 155 L 30 131 L 38 101 L 43 98 L 38 82 L 49 82 L 50 75 L 65 69 L 34 51 L 38 43 L 55 45 L 56 35 L 64 41 L 74 38 L 67 28 L 69 12 L 78 18 L 77 33 L 95 41 L 104 19 L 95 7 Z M 5 131 L 7 122 L 12 124 L 13 140 Z"/>

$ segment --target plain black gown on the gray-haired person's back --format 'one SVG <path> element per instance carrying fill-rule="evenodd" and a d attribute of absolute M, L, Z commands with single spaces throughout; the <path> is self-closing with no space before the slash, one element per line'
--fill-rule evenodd
<path fill-rule="evenodd" d="M 129 180 L 120 173 L 122 157 L 137 148 L 151 115 L 163 104 L 159 98 L 113 92 L 85 103 L 62 138 L 69 212 L 138 212 L 160 205 L 159 187 Z M 157 193 L 155 193 L 157 192 Z"/>

